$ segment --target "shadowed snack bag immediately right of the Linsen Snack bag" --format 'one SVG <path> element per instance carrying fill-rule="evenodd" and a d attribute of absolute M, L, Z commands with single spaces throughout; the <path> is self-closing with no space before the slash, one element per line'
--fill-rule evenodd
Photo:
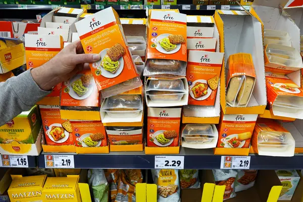
<path fill-rule="evenodd" d="M 179 170 L 181 189 L 197 189 L 200 188 L 198 170 L 183 169 Z"/>

